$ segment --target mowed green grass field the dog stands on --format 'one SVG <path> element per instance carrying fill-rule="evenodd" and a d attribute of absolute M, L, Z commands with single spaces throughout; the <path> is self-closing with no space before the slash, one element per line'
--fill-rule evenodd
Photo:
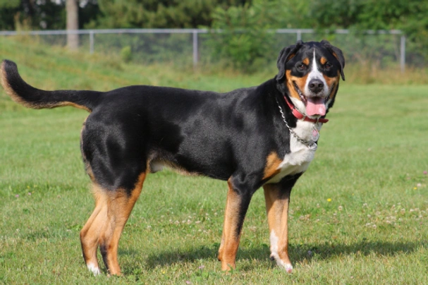
<path fill-rule="evenodd" d="M 223 92 L 276 74 L 274 65 L 255 75 L 125 65 L 25 39 L 0 46 L 1 58 L 46 89 Z M 79 241 L 94 207 L 79 150 L 87 113 L 24 109 L 1 90 L 0 284 L 428 284 L 427 94 L 428 85 L 341 82 L 315 159 L 291 194 L 292 274 L 269 260 L 262 190 L 245 219 L 237 269 L 224 273 L 216 254 L 226 183 L 161 171 L 148 176 L 123 231 L 125 276 L 107 277 L 103 266 L 93 277 Z"/>

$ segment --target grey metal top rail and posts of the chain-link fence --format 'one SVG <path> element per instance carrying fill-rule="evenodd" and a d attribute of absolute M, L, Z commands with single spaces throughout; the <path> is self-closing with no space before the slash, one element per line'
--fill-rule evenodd
<path fill-rule="evenodd" d="M 288 34 L 288 35 L 295 35 L 295 40 L 302 40 L 303 37 L 309 38 L 308 40 L 314 40 L 313 37 L 315 35 L 319 35 L 320 32 L 313 29 L 276 29 L 276 30 L 268 30 L 271 33 L 274 33 L 275 35 L 278 35 L 281 37 L 281 35 Z M 95 51 L 95 46 L 97 44 L 95 37 L 99 37 L 98 42 L 102 42 L 101 36 L 102 35 L 116 35 L 116 36 L 123 36 L 123 35 L 188 35 L 191 36 L 190 40 L 181 40 L 181 44 L 185 44 L 183 42 L 188 42 L 189 47 L 192 47 L 192 64 L 193 66 L 197 66 L 197 64 L 200 62 L 201 57 L 201 49 L 204 49 L 203 42 L 206 39 L 202 39 L 201 37 L 207 37 L 210 33 L 221 33 L 221 30 L 207 30 L 207 29 L 113 29 L 113 30 L 34 30 L 34 31 L 0 31 L 0 36 L 17 36 L 17 35 L 31 35 L 31 36 L 53 36 L 53 37 L 61 37 L 64 38 L 62 40 L 59 40 L 59 44 L 65 45 L 64 42 L 65 36 L 68 34 L 78 34 L 85 37 L 88 37 L 87 40 L 80 40 L 81 42 L 81 48 L 84 48 L 84 46 L 87 46 L 89 49 L 89 52 L 92 54 Z M 323 34 L 323 33 L 321 33 Z M 308 36 L 309 35 L 309 36 Z M 399 63 L 401 66 L 401 71 L 405 71 L 405 64 L 406 64 L 406 38 L 403 32 L 401 30 L 365 30 L 359 33 L 355 33 L 350 30 L 334 30 L 326 31 L 324 35 L 335 35 L 335 37 L 341 37 L 341 35 L 351 35 L 352 37 L 367 37 L 367 36 L 374 36 L 374 37 L 381 37 L 379 41 L 372 41 L 372 42 L 379 42 L 381 44 L 382 40 L 389 42 L 391 44 L 391 39 L 386 37 L 395 37 L 394 40 L 392 40 L 391 44 L 391 51 L 386 52 L 385 54 L 389 53 L 386 56 L 389 56 L 389 61 L 396 61 L 396 63 Z M 385 37 L 386 36 L 386 37 Z M 399 40 L 396 39 L 396 37 L 399 37 Z M 123 40 L 123 39 L 122 39 Z M 120 46 L 120 43 L 117 43 L 119 40 L 110 40 L 111 42 L 115 42 L 114 44 L 111 44 L 111 49 L 117 49 L 118 46 Z M 138 40 L 134 40 L 134 43 L 131 43 L 135 46 L 135 42 Z M 292 44 L 294 40 L 291 40 L 291 38 L 288 38 L 286 41 L 290 42 L 289 44 Z M 344 40 L 347 42 L 350 42 L 350 40 Z M 47 40 L 47 42 L 51 44 L 58 44 L 57 40 Z M 123 45 L 130 44 L 129 42 L 132 42 L 130 40 L 125 40 L 123 42 Z M 140 40 L 140 42 L 144 42 L 145 46 L 147 47 L 147 40 Z M 154 42 L 154 41 L 153 41 Z M 191 43 L 190 43 L 191 42 Z M 399 44 L 398 44 L 399 42 Z M 140 43 L 141 44 L 141 43 Z M 154 43 L 153 43 L 154 44 Z M 161 43 L 160 43 L 161 44 Z M 367 42 L 366 45 L 368 46 L 370 43 Z M 108 46 L 108 44 L 106 44 Z M 185 44 L 186 45 L 186 44 Z M 287 44 L 282 44 L 287 45 Z M 350 44 L 352 46 L 352 44 Z M 395 47 L 397 46 L 397 47 Z M 177 46 L 176 46 L 177 47 Z M 360 44 L 360 49 L 365 48 L 366 46 L 364 43 Z M 181 47 L 183 50 L 188 50 L 188 47 Z M 137 48 L 136 48 L 137 49 Z M 377 49 L 376 47 L 373 47 L 373 49 Z M 103 51 L 108 51 L 109 47 L 104 47 Z M 397 52 L 398 51 L 398 52 Z M 352 51 L 351 51 L 352 52 Z M 355 53 L 357 51 L 353 51 Z M 369 51 L 366 51 L 369 52 Z M 392 54 L 392 55 L 391 55 Z M 384 56 L 384 54 L 381 54 L 380 56 Z"/>

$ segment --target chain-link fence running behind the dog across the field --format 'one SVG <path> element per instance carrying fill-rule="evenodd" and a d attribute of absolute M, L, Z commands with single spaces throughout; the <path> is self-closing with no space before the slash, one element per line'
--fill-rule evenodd
<path fill-rule="evenodd" d="M 266 57 L 276 61 L 279 51 L 296 40 L 329 40 L 340 47 L 347 63 L 370 64 L 377 68 L 401 66 L 422 67 L 426 59 L 420 49 L 408 42 L 400 30 L 334 30 L 319 32 L 310 29 L 269 30 L 273 40 Z M 172 62 L 197 66 L 217 61 L 212 41 L 221 31 L 204 29 L 115 29 L 115 30 L 45 30 L 0 32 L 2 36 L 28 35 L 50 45 L 66 46 L 68 33 L 78 34 L 80 49 L 88 53 L 121 54 L 127 49 L 140 63 Z M 216 36 L 216 37 L 214 37 Z"/>

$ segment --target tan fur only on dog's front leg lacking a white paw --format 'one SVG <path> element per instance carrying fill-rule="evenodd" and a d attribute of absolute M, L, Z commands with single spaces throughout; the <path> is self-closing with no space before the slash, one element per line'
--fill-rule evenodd
<path fill-rule="evenodd" d="M 236 236 L 236 225 L 238 224 L 238 207 L 240 198 L 233 190 L 230 179 L 228 180 L 228 194 L 226 210 L 224 211 L 223 235 L 219 248 L 221 270 L 228 271 L 236 268 L 236 253 L 238 252 L 240 236 Z"/>

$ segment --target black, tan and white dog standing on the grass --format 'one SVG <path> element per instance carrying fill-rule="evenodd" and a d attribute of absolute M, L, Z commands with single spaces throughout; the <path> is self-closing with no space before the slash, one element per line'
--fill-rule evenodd
<path fill-rule="evenodd" d="M 279 73 L 256 87 L 228 93 L 128 86 L 109 92 L 44 91 L 3 61 L 8 95 L 34 109 L 73 106 L 90 111 L 81 150 L 93 183 L 95 210 L 80 232 L 87 267 L 99 274 L 99 247 L 109 274 L 121 274 L 123 226 L 149 173 L 164 166 L 228 183 L 221 269 L 235 268 L 245 213 L 264 188 L 271 259 L 291 272 L 288 203 L 291 188 L 317 149 L 319 128 L 333 105 L 345 61 L 329 42 L 297 42 L 278 58 Z M 344 78 L 343 78 L 344 79 Z"/>

